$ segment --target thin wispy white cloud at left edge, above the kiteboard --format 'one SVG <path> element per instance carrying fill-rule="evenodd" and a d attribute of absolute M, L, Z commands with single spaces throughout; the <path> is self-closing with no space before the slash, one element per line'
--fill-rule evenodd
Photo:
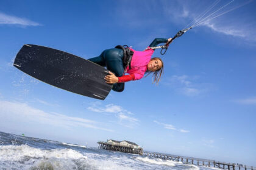
<path fill-rule="evenodd" d="M 30 21 L 29 19 L 7 15 L 5 13 L 0 13 L 0 24 L 15 24 L 15 25 L 21 25 L 21 26 L 40 26 L 41 25 L 34 21 Z"/>

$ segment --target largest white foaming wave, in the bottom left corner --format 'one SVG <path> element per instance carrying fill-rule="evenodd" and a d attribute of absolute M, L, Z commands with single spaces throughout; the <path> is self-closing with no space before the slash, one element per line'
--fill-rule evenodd
<path fill-rule="evenodd" d="M 77 169 L 74 160 L 85 161 L 87 157 L 73 149 L 0 146 L 0 167 L 4 169 Z"/>

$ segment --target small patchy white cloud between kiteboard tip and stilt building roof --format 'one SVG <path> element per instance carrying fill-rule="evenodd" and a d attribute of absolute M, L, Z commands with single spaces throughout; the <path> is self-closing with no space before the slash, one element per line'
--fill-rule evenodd
<path fill-rule="evenodd" d="M 114 104 L 105 105 L 105 107 L 99 107 L 99 103 L 92 104 L 91 107 L 87 107 L 88 110 L 98 113 L 111 113 L 118 118 L 118 124 L 122 126 L 133 128 L 140 122 L 138 119 L 133 118 L 130 115 L 133 113 L 125 110 L 123 107 Z"/>

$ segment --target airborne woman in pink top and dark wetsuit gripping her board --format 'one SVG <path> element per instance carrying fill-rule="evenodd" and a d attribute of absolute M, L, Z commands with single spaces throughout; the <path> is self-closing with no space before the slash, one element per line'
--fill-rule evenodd
<path fill-rule="evenodd" d="M 114 83 L 112 88 L 114 91 L 123 91 L 124 82 L 139 80 L 145 73 L 154 72 L 153 83 L 158 83 L 163 73 L 163 61 L 158 57 L 151 58 L 155 51 L 152 48 L 160 43 L 168 44 L 171 39 L 155 38 L 144 51 L 135 51 L 132 48 L 117 48 L 118 46 L 116 46 L 116 48 L 106 49 L 98 57 L 88 60 L 107 67 L 110 75 L 105 76 L 104 79 L 106 83 Z M 124 57 L 128 62 L 124 61 Z M 124 75 L 125 73 L 129 75 Z"/>

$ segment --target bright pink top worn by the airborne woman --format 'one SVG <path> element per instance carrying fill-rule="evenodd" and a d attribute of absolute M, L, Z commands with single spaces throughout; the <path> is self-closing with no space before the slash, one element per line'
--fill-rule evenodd
<path fill-rule="evenodd" d="M 131 69 L 127 66 L 126 73 L 133 74 L 135 77 L 134 80 L 139 80 L 147 71 L 147 65 L 151 60 L 154 50 L 145 49 L 144 51 L 135 51 L 132 48 L 130 49 L 133 51 L 132 61 L 130 62 Z"/>

